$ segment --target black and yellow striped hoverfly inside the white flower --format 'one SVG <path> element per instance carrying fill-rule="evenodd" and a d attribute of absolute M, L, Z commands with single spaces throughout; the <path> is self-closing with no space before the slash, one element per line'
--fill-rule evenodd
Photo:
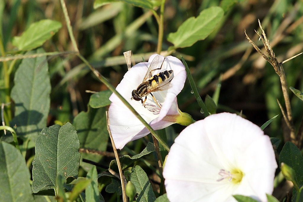
<path fill-rule="evenodd" d="M 159 55 L 157 55 L 151 61 L 151 65 L 148 67 L 148 70 L 143 78 L 142 83 L 137 87 L 137 89 L 132 91 L 131 99 L 135 99 L 136 101 L 141 100 L 141 103 L 143 104 L 143 106 L 145 106 L 147 95 L 150 94 L 155 103 L 161 108 L 155 96 L 151 93 L 156 91 L 165 91 L 171 88 L 170 82 L 173 79 L 173 70 L 165 70 L 154 76 L 151 74 L 151 72 L 160 70 L 162 68 L 164 60 L 162 61 L 160 68 L 156 68 L 159 63 Z M 142 97 L 144 96 L 145 100 L 143 101 Z"/>

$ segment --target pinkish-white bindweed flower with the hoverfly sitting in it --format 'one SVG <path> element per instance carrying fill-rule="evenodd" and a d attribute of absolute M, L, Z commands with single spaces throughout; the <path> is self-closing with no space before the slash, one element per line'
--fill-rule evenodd
<path fill-rule="evenodd" d="M 156 91 L 152 93 L 158 103 L 155 103 L 151 95 L 148 94 L 145 106 L 143 106 L 141 101 L 136 101 L 135 99 L 131 100 L 132 91 L 136 90 L 142 83 L 148 67 L 155 57 L 158 57 L 158 65 L 156 65 L 155 68 L 160 68 L 161 65 L 162 67 L 160 70 L 152 71 L 152 75 L 156 75 L 165 70 L 173 70 L 170 88 L 165 91 Z M 116 90 L 132 105 L 133 108 L 135 108 L 153 129 L 159 130 L 173 123 L 182 124 L 182 121 L 186 121 L 187 114 L 179 110 L 176 97 L 182 90 L 185 79 L 185 67 L 178 58 L 173 56 L 163 57 L 154 54 L 151 55 L 148 62 L 141 62 L 133 66 L 124 75 Z M 145 97 L 142 99 L 144 101 Z M 115 94 L 112 94 L 109 100 L 112 101 L 108 110 L 109 128 L 115 146 L 118 149 L 122 149 L 128 142 L 144 137 L 149 133 L 141 121 L 135 117 Z"/>

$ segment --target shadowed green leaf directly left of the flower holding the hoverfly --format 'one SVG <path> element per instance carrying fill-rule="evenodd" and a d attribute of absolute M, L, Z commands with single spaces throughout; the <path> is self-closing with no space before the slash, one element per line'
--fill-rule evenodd
<path fill-rule="evenodd" d="M 74 126 L 78 131 L 80 147 L 105 151 L 108 143 L 105 108 L 93 109 L 88 107 L 88 112 L 82 111 L 74 119 Z M 98 162 L 102 156 L 82 154 L 82 158 Z"/>

